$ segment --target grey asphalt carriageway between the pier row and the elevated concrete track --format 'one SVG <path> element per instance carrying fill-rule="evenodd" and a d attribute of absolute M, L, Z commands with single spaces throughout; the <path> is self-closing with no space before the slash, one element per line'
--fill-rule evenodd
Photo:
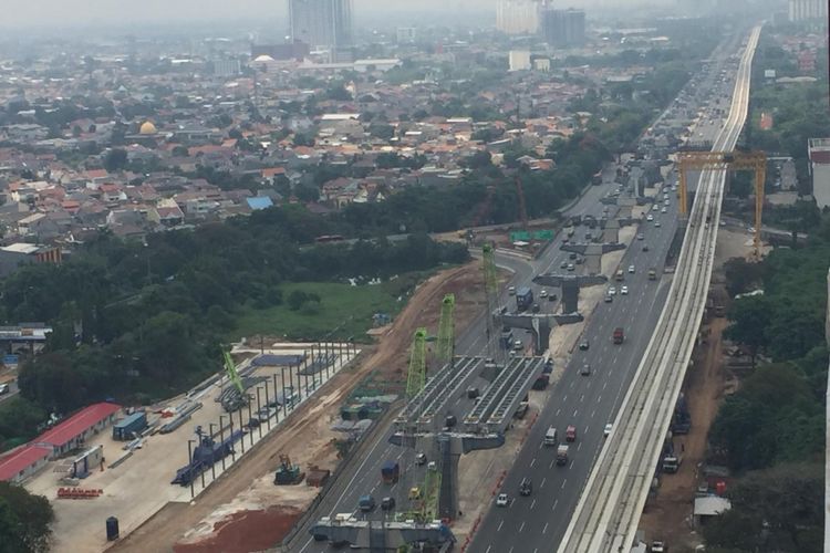
<path fill-rule="evenodd" d="M 709 124 L 707 119 L 695 133 L 701 139 L 714 140 L 720 126 L 720 121 Z M 641 225 L 650 251 L 637 248 L 642 243 L 639 240 L 626 251 L 621 268 L 634 265 L 635 273 L 626 272 L 625 282 L 611 283 L 616 284 L 618 291 L 613 303 L 599 304 L 583 332 L 590 348 L 574 352 L 508 472 L 502 484 L 502 491 L 510 495 L 508 505 L 490 507 L 468 551 L 539 553 L 551 551 L 551 545 L 561 541 L 602 448 L 604 427 L 616 416 L 665 304 L 671 281 L 667 276 L 660 282 L 649 281 L 645 269 L 662 269 L 676 229 L 676 195 L 670 192 L 670 198 L 667 213 L 650 211 L 655 222 L 661 221 L 661 228 L 655 228 L 655 222 Z M 621 285 L 629 288 L 627 295 L 620 295 Z M 611 342 L 618 326 L 625 332 L 621 345 Z M 592 367 L 590 376 L 580 375 L 584 363 Z M 567 465 L 557 466 L 556 448 L 544 447 L 542 439 L 549 427 L 556 427 L 563 440 L 569 425 L 577 427 L 578 438 L 571 444 Z M 529 497 L 518 494 L 523 478 L 533 482 Z"/>

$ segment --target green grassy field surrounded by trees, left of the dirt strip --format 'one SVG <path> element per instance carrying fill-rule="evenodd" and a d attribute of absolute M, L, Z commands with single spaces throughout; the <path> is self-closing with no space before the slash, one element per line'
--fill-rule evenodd
<path fill-rule="evenodd" d="M 396 315 L 406 304 L 408 292 L 427 274 L 407 274 L 376 285 L 352 286 L 331 282 L 299 282 L 280 286 L 283 302 L 268 309 L 246 306 L 237 317 L 231 338 L 266 334 L 284 335 L 289 340 L 320 340 L 334 328 L 332 338 L 354 336 L 366 342 L 372 327 L 372 315 Z M 320 296 L 320 303 L 309 302 L 298 311 L 289 309 L 289 294 L 294 290 Z M 398 301 L 402 298 L 402 301 Z"/>

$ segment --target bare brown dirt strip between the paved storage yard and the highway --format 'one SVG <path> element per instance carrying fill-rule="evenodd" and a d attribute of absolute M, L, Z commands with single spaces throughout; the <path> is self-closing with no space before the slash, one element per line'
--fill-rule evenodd
<path fill-rule="evenodd" d="M 480 310 L 476 300 L 480 288 L 478 262 L 444 271 L 422 283 L 380 343 L 365 348 L 352 368 L 334 376 L 303 409 L 294 411 L 284 430 L 263 440 L 196 501 L 167 503 L 111 550 L 241 553 L 280 541 L 317 490 L 304 484 L 273 486 L 279 455 L 288 453 L 303 469 L 312 461 L 324 469 L 333 468 L 336 452 L 332 440 L 336 435 L 330 425 L 351 390 L 373 372 L 382 380 L 403 379 L 412 336 L 419 326 L 437 330 L 444 294 L 456 294 L 456 332 L 460 332 Z"/>

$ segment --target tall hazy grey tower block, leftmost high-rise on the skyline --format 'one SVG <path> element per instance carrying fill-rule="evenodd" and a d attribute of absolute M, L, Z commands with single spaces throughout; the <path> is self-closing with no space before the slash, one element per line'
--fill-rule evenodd
<path fill-rule="evenodd" d="M 352 0 L 289 0 L 291 38 L 312 48 L 352 45 Z"/>

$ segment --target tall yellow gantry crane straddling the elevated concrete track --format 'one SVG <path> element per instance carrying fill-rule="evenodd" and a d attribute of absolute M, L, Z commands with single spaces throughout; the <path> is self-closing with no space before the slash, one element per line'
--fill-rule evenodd
<path fill-rule="evenodd" d="M 691 170 L 751 170 L 755 173 L 755 257 L 760 259 L 761 212 L 764 210 L 764 182 L 767 178 L 767 155 L 764 152 L 681 152 L 677 155 L 679 173 L 679 212 L 688 216 L 688 182 Z M 715 221 L 717 225 L 717 221 Z"/>

